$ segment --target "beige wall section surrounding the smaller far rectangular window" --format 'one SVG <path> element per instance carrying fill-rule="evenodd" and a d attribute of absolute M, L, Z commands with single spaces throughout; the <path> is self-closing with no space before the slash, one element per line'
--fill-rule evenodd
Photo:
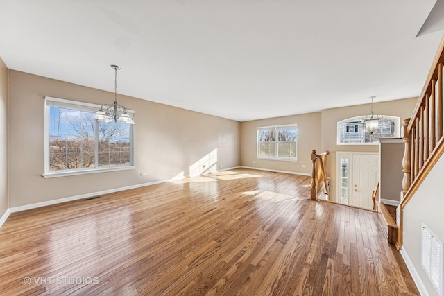
<path fill-rule="evenodd" d="M 257 159 L 257 128 L 298 123 L 298 161 Z M 241 165 L 276 171 L 311 174 L 311 150 L 321 149 L 321 112 L 284 116 L 241 123 Z M 305 166 L 305 167 L 302 167 Z"/>

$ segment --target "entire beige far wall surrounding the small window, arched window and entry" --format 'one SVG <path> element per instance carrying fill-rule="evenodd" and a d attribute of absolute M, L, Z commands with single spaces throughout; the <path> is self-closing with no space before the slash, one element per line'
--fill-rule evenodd
<path fill-rule="evenodd" d="M 418 98 L 374 103 L 373 109 L 377 114 L 398 116 L 402 121 L 411 116 Z M 331 179 L 330 200 L 336 198 L 336 151 L 379 153 L 378 145 L 337 145 L 337 122 L 350 117 L 370 113 L 370 104 L 354 105 L 322 110 L 309 114 L 284 116 L 241 123 L 241 165 L 265 168 L 276 171 L 311 174 L 311 150 L 318 152 L 330 151 L 328 158 L 328 173 Z M 298 123 L 298 162 L 282 162 L 256 158 L 257 127 Z M 305 166 L 305 167 L 302 167 Z M 402 167 L 400 166 L 400 170 Z"/>

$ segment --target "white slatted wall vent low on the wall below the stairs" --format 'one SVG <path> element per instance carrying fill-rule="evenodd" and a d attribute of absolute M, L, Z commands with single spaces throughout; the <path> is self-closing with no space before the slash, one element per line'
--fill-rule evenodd
<path fill-rule="evenodd" d="M 421 250 L 422 268 L 438 291 L 438 295 L 444 296 L 444 244 L 424 223 L 422 223 Z"/>

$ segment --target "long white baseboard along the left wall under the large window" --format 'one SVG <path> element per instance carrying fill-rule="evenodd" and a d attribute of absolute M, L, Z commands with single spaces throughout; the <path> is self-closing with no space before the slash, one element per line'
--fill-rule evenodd
<path fill-rule="evenodd" d="M 97 191 L 97 192 L 93 192 L 93 193 L 85 193 L 85 194 L 80 194 L 80 195 L 76 195 L 76 196 L 71 196 L 69 198 L 59 198 L 57 200 L 48 200 L 46 202 L 37 202 L 35 204 L 26 204 L 24 206 L 12 207 L 9 210 L 11 213 L 15 213 L 17 211 L 25 211 L 27 209 L 36 209 L 39 207 L 46 207 L 46 206 L 50 206 L 53 204 L 60 204 L 62 202 L 71 202 L 73 200 L 81 200 L 83 198 L 92 198 L 92 197 L 98 196 L 98 195 L 114 193 L 114 192 L 128 190 L 128 189 L 136 189 L 139 187 L 150 186 L 150 185 L 160 184 L 160 183 L 169 182 L 169 181 L 170 180 L 160 180 L 160 181 L 148 182 L 148 183 L 137 184 L 137 185 L 132 185 L 132 186 L 125 186 L 125 187 L 120 187 L 120 188 L 115 188 L 115 189 Z"/>

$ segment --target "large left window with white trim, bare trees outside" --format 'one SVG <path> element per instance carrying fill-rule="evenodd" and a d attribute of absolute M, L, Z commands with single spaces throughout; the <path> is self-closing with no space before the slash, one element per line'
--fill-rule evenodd
<path fill-rule="evenodd" d="M 133 125 L 99 122 L 93 117 L 99 108 L 45 98 L 45 175 L 133 166 Z"/>

